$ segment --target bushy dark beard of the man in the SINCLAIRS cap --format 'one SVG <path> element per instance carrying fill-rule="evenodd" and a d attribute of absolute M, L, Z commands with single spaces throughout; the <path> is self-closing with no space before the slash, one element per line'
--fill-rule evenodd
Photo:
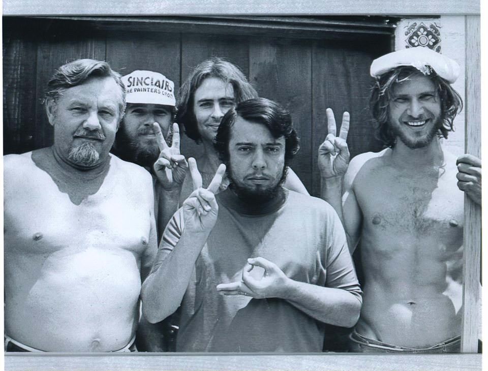
<path fill-rule="evenodd" d="M 152 132 L 152 131 L 151 131 Z M 159 159 L 159 146 L 156 138 L 148 143 L 140 143 L 138 136 L 146 133 L 145 129 L 140 129 L 137 132 L 136 139 L 132 139 L 127 135 L 124 127 L 120 128 L 116 138 L 116 152 L 117 156 L 125 161 L 130 161 L 139 166 L 152 167 Z M 173 141 L 173 129 L 170 128 L 165 142 L 171 146 Z"/>

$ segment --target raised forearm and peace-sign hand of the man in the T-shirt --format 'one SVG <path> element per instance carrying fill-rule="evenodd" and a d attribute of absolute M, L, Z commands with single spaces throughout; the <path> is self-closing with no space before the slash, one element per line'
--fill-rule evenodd
<path fill-rule="evenodd" d="M 166 227 L 153 270 L 142 286 L 143 314 L 151 323 L 168 317 L 180 305 L 198 255 L 217 222 L 219 207 L 215 193 L 225 165 L 219 166 L 204 189 L 195 159 L 189 159 L 189 164 L 194 191 Z M 182 219 L 180 223 L 178 218 Z"/>

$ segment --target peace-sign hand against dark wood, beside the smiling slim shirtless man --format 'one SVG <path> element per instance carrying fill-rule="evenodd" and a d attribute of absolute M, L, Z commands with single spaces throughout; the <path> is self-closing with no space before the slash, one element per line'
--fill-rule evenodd
<path fill-rule="evenodd" d="M 342 176 L 349 165 L 349 148 L 346 143 L 349 132 L 349 112 L 342 116 L 339 137 L 335 136 L 335 118 L 330 108 L 327 108 L 327 137 L 319 147 L 318 165 L 322 178 Z"/>

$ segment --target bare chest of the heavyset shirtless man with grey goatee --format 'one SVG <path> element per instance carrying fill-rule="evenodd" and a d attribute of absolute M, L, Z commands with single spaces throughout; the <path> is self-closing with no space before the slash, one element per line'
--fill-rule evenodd
<path fill-rule="evenodd" d="M 103 191 L 76 205 L 52 183 L 24 187 L 6 207 L 6 246 L 33 253 L 75 246 L 142 250 L 149 240 L 149 208 L 120 187 Z"/>

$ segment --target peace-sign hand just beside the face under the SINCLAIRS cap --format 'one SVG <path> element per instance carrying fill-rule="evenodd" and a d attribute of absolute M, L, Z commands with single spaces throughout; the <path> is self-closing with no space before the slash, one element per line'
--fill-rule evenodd
<path fill-rule="evenodd" d="M 188 170 L 185 156 L 179 152 L 179 128 L 173 123 L 173 140 L 171 147 L 166 144 L 161 128 L 157 122 L 153 124 L 158 147 L 161 151 L 159 159 L 154 163 L 154 172 L 161 186 L 166 191 L 181 188 Z"/>

